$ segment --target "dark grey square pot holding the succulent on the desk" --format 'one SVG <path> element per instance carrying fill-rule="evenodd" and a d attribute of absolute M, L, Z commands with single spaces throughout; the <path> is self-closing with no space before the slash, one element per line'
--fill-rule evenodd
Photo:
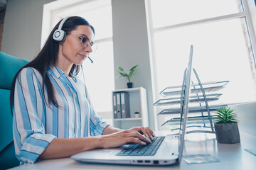
<path fill-rule="evenodd" d="M 214 127 L 217 142 L 224 144 L 240 142 L 238 123 L 215 123 Z"/>

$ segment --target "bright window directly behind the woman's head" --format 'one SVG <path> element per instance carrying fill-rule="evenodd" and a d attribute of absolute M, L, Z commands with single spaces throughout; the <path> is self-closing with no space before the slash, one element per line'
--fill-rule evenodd
<path fill-rule="evenodd" d="M 114 90 L 111 1 L 53 1 L 44 6 L 44 16 L 48 15 L 51 15 L 52 22 L 43 23 L 43 28 L 46 27 L 45 29 L 49 30 L 49 33 L 53 26 L 65 16 L 82 16 L 95 28 L 94 41 L 97 44 L 97 50 L 90 55 L 93 64 L 90 60 L 85 60 L 82 64 L 85 83 L 95 111 L 111 123 L 111 93 Z M 43 33 L 42 40 L 46 40 Z M 81 77 L 81 79 L 83 78 Z"/>

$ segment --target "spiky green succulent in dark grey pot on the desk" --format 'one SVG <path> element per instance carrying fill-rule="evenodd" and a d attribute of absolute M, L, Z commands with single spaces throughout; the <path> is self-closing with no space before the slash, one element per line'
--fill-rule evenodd
<path fill-rule="evenodd" d="M 217 142 L 234 144 L 240 142 L 238 113 L 232 108 L 219 108 L 217 121 L 214 123 Z"/>

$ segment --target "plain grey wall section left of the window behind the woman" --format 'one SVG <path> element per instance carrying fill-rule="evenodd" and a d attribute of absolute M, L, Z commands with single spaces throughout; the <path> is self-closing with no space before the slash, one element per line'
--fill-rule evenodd
<path fill-rule="evenodd" d="M 43 4 L 54 0 L 9 0 L 1 51 L 32 60 L 40 50 Z"/>

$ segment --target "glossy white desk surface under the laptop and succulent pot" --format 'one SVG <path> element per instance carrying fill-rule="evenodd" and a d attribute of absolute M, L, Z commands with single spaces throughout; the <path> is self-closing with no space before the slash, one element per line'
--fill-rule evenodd
<path fill-rule="evenodd" d="M 187 164 L 183 159 L 181 164 L 174 166 L 124 166 L 107 164 L 82 164 L 73 159 L 51 159 L 24 164 L 13 169 L 256 169 L 256 156 L 245 149 L 256 149 L 256 137 L 240 132 L 241 142 L 238 144 L 219 144 L 214 134 L 189 134 L 186 137 L 183 155 L 210 154 L 220 162 L 205 164 Z"/>

